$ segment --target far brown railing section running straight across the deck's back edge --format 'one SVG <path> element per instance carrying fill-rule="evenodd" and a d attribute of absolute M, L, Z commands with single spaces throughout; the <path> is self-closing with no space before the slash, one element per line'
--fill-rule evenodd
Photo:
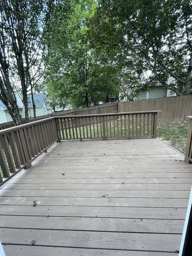
<path fill-rule="evenodd" d="M 57 116 L 59 140 L 107 138 L 156 138 L 160 111 Z"/>

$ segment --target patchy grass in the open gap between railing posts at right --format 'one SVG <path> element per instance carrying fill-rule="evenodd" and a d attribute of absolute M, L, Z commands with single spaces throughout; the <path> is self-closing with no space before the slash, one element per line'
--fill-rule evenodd
<path fill-rule="evenodd" d="M 189 122 L 158 121 L 157 137 L 185 154 Z"/>

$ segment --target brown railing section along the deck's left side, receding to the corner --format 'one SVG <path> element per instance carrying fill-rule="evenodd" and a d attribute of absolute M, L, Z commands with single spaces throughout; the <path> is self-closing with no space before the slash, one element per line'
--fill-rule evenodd
<path fill-rule="evenodd" d="M 0 131 L 0 185 L 31 162 L 56 141 L 55 117 Z"/>

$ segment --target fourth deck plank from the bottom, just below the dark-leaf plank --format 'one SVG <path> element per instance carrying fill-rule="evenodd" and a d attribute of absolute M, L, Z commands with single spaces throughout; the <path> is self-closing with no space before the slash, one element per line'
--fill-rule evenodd
<path fill-rule="evenodd" d="M 1 215 L 185 219 L 186 208 L 107 206 L 0 206 Z M 1 241 L 2 242 L 2 241 Z"/>

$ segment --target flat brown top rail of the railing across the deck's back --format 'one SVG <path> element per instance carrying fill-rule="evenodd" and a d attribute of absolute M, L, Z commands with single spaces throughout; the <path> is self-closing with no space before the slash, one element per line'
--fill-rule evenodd
<path fill-rule="evenodd" d="M 56 118 L 74 118 L 74 117 L 91 117 L 91 116 L 92 117 L 94 117 L 94 116 L 121 116 L 121 115 L 133 115 L 133 114 L 150 114 L 150 113 L 158 113 L 158 112 L 162 112 L 162 110 L 91 114 L 91 115 L 77 115 L 77 116 L 56 116 Z"/>

